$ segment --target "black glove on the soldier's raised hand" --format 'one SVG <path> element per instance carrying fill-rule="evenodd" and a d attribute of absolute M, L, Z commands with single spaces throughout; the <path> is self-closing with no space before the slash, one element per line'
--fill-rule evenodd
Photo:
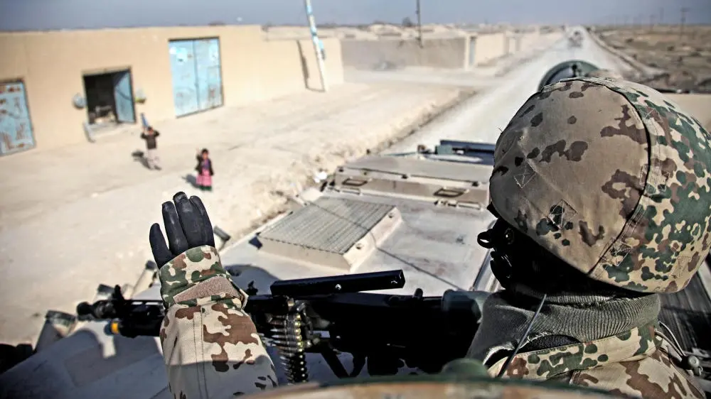
<path fill-rule="evenodd" d="M 154 223 L 149 233 L 151 251 L 159 268 L 190 248 L 215 246 L 213 225 L 200 198 L 193 195 L 188 200 L 184 192 L 178 192 L 173 195 L 173 202 L 164 202 L 162 206 L 168 245 L 160 224 Z"/>

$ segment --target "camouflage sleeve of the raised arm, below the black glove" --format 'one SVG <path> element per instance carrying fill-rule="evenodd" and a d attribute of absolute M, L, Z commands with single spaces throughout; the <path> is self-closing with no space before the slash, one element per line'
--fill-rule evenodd
<path fill-rule="evenodd" d="M 191 248 L 159 271 L 166 316 L 161 346 L 176 398 L 232 398 L 277 386 L 247 294 L 211 246 Z"/>

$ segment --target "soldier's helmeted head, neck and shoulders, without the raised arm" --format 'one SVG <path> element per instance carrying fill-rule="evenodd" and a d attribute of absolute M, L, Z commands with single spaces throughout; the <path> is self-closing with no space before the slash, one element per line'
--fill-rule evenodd
<path fill-rule="evenodd" d="M 658 293 L 685 288 L 711 245 L 709 145 L 641 84 L 579 77 L 530 97 L 496 142 L 498 221 L 479 241 L 505 290 L 468 356 L 497 375 L 525 337 L 506 376 L 703 398 L 657 318 Z"/>

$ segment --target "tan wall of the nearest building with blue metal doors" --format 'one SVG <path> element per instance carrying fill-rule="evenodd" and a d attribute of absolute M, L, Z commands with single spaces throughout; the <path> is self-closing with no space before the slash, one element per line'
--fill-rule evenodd
<path fill-rule="evenodd" d="M 147 99 L 136 104 L 137 119 L 141 112 L 149 121 L 173 119 L 169 40 L 213 37 L 220 38 L 225 106 L 306 88 L 296 40 L 267 42 L 259 26 L 0 33 L 0 80 L 25 82 L 37 148 L 80 143 L 86 140 L 87 110 L 76 109 L 72 97 L 84 95 L 85 72 L 129 67 L 134 93 L 141 89 Z M 338 40 L 326 39 L 324 46 L 329 84 L 341 83 Z M 314 51 L 305 51 L 304 58 L 315 70 Z M 311 75 L 318 82 L 317 70 Z"/>

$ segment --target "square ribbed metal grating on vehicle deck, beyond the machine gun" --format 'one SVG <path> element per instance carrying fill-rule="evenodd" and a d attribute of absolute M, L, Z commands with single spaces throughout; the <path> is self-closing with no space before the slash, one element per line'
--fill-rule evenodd
<path fill-rule="evenodd" d="M 392 205 L 321 197 L 262 231 L 260 239 L 343 255 Z"/>

